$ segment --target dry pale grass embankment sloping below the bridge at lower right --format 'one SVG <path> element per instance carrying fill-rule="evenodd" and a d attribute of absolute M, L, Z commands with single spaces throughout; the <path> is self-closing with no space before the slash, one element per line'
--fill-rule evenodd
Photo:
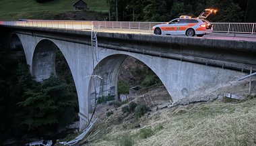
<path fill-rule="evenodd" d="M 85 145 L 256 145 L 255 97 L 165 108 L 131 123 L 118 114 L 100 121 Z"/>

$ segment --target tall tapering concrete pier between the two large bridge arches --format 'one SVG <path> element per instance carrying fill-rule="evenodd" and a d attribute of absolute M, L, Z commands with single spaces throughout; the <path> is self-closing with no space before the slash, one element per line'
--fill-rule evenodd
<path fill-rule="evenodd" d="M 83 130 L 87 127 L 90 118 L 88 89 L 91 77 L 87 76 L 92 75 L 93 72 L 91 46 L 60 40 L 53 40 L 53 42 L 61 50 L 69 64 L 78 96 L 79 129 Z"/>

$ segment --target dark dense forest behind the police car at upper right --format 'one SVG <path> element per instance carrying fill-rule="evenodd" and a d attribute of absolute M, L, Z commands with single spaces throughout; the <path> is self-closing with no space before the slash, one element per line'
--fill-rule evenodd
<path fill-rule="evenodd" d="M 207 8 L 218 11 L 210 21 L 256 21 L 250 7 L 255 5 L 253 0 L 106 0 L 106 3 L 112 21 L 170 21 L 180 15 L 197 17 Z"/>

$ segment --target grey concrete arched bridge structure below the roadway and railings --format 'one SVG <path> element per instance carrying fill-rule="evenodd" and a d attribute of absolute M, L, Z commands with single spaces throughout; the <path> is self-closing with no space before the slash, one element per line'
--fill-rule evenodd
<path fill-rule="evenodd" d="M 256 70 L 255 39 L 98 32 L 98 48 L 94 48 L 91 31 L 6 25 L 0 29 L 9 34 L 10 48 L 24 48 L 38 81 L 55 74 L 55 54 L 61 50 L 77 89 L 80 129 L 88 124 L 95 95 L 117 97 L 119 68 L 127 56 L 151 68 L 173 102 L 226 86 Z"/>

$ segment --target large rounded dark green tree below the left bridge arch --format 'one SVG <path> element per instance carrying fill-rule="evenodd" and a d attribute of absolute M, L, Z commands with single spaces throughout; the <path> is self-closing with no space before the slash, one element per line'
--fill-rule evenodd
<path fill-rule="evenodd" d="M 62 78 L 51 76 L 32 88 L 26 89 L 18 102 L 26 111 L 22 124 L 29 130 L 44 131 L 45 126 L 63 127 L 73 121 L 77 108 L 76 94 Z"/>

